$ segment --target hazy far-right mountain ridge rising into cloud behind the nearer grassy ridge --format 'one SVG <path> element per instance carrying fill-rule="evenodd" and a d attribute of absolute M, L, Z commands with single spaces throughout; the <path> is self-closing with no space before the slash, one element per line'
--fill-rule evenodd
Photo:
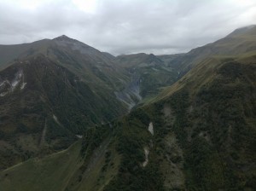
<path fill-rule="evenodd" d="M 234 32 L 231 32 L 226 37 L 214 43 L 208 43 L 205 46 L 192 49 L 187 54 L 177 56 L 176 59 L 170 62 L 170 65 L 176 67 L 180 71 L 180 77 L 182 77 L 197 62 L 206 59 L 208 56 L 236 57 L 236 55 L 253 53 L 256 47 L 255 30 L 255 26 L 236 29 Z"/>

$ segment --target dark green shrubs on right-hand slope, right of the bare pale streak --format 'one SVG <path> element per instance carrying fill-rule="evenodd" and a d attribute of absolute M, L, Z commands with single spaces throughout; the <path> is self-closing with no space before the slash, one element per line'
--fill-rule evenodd
<path fill-rule="evenodd" d="M 252 94 L 256 76 L 252 71 L 256 66 L 229 60 L 217 67 L 216 77 L 205 79 L 207 84 L 199 86 L 195 83 L 201 82 L 194 81 L 165 101 L 176 117 L 172 130 L 184 151 L 186 187 L 250 189 L 255 169 L 241 171 L 238 166 L 250 166 L 255 158 L 256 124 L 252 119 L 256 107 Z"/>

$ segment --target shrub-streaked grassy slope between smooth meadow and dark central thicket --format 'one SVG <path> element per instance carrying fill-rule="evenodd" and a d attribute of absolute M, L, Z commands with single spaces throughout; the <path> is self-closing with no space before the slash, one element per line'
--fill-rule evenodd
<path fill-rule="evenodd" d="M 119 154 L 114 143 L 108 124 L 86 130 L 81 149 L 83 164 L 67 190 L 102 190 L 118 172 Z"/>

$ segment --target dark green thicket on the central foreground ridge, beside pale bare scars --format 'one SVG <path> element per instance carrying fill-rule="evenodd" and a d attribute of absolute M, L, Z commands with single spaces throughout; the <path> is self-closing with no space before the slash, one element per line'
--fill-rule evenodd
<path fill-rule="evenodd" d="M 137 108 L 118 123 L 119 173 L 104 190 L 164 190 L 154 139 L 147 130 L 149 122 L 148 113 Z M 145 147 L 149 148 L 149 162 L 143 167 Z"/>

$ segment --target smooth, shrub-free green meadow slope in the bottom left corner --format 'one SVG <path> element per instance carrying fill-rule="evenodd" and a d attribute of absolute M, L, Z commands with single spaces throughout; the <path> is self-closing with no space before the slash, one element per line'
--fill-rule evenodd
<path fill-rule="evenodd" d="M 8 190 L 64 190 L 81 164 L 81 141 L 43 159 L 29 159 L 0 173 L 0 188 Z"/>

